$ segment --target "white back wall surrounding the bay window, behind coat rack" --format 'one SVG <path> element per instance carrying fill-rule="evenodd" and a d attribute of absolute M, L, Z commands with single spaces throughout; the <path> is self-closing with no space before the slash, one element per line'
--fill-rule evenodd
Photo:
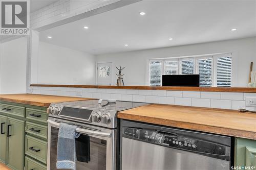
<path fill-rule="evenodd" d="M 248 83 L 249 65 L 254 61 L 256 69 L 256 37 L 217 41 L 193 45 L 182 45 L 152 50 L 104 54 L 97 56 L 97 62 L 112 62 L 114 74 L 115 66 L 125 66 L 123 70 L 125 85 L 148 85 L 147 84 L 147 60 L 161 57 L 179 57 L 215 53 L 233 53 L 234 82 L 232 86 L 245 87 Z M 116 83 L 113 76 L 112 83 Z"/>

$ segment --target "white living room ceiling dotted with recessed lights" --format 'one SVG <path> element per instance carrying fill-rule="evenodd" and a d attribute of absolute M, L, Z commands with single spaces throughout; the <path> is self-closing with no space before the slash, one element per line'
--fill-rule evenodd
<path fill-rule="evenodd" d="M 146 15 L 139 15 L 141 11 Z M 237 31 L 230 31 L 233 28 Z M 256 1 L 158 0 L 46 30 L 40 40 L 99 55 L 252 36 L 256 36 Z"/>

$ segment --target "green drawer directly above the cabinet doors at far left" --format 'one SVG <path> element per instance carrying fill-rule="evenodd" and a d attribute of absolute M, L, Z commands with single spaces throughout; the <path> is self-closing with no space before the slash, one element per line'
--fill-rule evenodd
<path fill-rule="evenodd" d="M 25 117 L 25 107 L 22 106 L 0 104 L 0 112 Z"/>

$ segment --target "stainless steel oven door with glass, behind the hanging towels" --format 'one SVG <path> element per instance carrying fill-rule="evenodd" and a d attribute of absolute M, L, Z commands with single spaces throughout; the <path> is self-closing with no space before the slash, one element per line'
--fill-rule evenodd
<path fill-rule="evenodd" d="M 116 169 L 116 130 L 109 130 L 66 120 L 48 119 L 48 157 L 47 169 L 55 170 L 57 161 L 57 142 L 59 123 L 76 125 L 80 135 L 90 136 L 90 161 L 76 161 L 76 170 Z M 83 128 L 81 128 L 83 127 Z M 79 148 L 78 148 L 79 149 Z"/>

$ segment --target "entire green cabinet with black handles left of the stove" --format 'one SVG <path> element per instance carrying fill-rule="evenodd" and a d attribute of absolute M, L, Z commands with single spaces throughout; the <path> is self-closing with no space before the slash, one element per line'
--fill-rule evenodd
<path fill-rule="evenodd" d="M 47 169 L 47 119 L 46 107 L 0 101 L 0 162 L 12 170 Z"/>

